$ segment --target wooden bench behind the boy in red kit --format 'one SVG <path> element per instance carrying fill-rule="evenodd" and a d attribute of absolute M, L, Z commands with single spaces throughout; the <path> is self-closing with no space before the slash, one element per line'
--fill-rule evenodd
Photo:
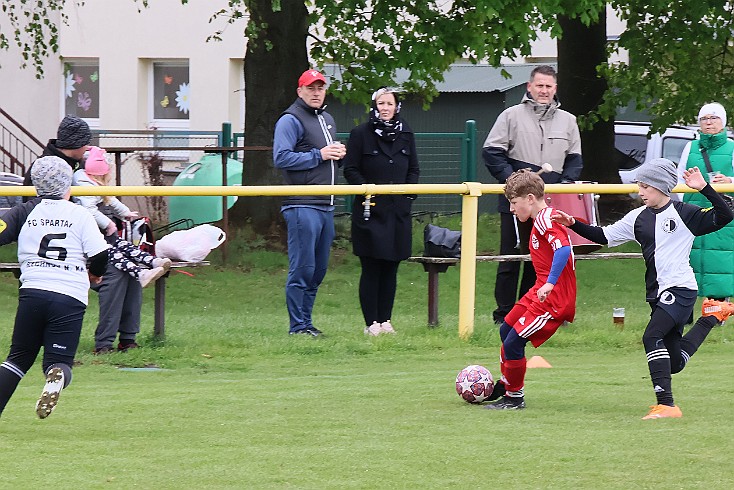
<path fill-rule="evenodd" d="M 599 259 L 640 259 L 642 254 L 634 253 L 590 253 L 575 255 L 576 260 Z M 477 262 L 522 262 L 530 260 L 530 255 L 477 255 Z M 459 259 L 445 257 L 410 257 L 408 262 L 423 264 L 428 273 L 428 325 L 438 325 L 438 275 L 460 262 Z"/>

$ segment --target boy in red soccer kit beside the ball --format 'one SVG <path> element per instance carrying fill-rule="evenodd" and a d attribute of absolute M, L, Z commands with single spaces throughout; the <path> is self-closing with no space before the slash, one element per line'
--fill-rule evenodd
<path fill-rule="evenodd" d="M 510 211 L 520 221 L 533 220 L 530 259 L 535 267 L 535 285 L 515 304 L 500 325 L 500 370 L 485 408 L 525 408 L 525 344 L 540 347 L 563 322 L 576 314 L 576 272 L 573 250 L 565 226 L 551 221 L 552 208 L 545 203 L 545 184 L 530 170 L 513 173 L 505 184 Z"/>

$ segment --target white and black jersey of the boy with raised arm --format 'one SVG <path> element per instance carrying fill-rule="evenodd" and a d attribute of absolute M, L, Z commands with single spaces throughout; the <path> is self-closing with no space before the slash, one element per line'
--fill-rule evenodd
<path fill-rule="evenodd" d="M 655 301 L 672 287 L 698 289 L 689 262 L 693 239 L 717 231 L 732 220 L 731 211 L 711 186 L 704 187 L 701 194 L 714 203 L 713 208 L 671 200 L 660 209 L 637 208 L 603 228 L 610 247 L 629 241 L 642 247 L 647 301 Z"/>

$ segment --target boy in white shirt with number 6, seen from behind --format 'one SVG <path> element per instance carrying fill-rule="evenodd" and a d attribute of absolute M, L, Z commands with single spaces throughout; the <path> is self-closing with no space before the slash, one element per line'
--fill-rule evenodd
<path fill-rule="evenodd" d="M 43 419 L 56 408 L 71 382 L 90 280 L 99 283 L 107 265 L 97 223 L 69 201 L 71 178 L 61 158 L 39 158 L 31 169 L 38 197 L 0 220 L 0 245 L 18 242 L 21 272 L 10 354 L 0 364 L 0 414 L 41 347 L 46 384 L 36 413 Z"/>

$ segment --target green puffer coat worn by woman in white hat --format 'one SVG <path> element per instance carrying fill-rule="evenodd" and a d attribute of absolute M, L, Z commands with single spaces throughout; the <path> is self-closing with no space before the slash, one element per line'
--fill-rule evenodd
<path fill-rule="evenodd" d="M 709 181 L 706 162 L 701 155 L 703 146 L 708 152 L 713 170 L 734 177 L 734 141 L 727 138 L 726 131 L 717 134 L 700 133 L 700 136 L 700 140 L 691 142 L 686 169 L 698 167 L 706 181 Z M 683 201 L 702 208 L 711 207 L 708 199 L 697 192 L 685 194 Z M 696 273 L 699 296 L 734 296 L 734 221 L 716 233 L 696 237 L 691 250 L 691 266 Z"/>

